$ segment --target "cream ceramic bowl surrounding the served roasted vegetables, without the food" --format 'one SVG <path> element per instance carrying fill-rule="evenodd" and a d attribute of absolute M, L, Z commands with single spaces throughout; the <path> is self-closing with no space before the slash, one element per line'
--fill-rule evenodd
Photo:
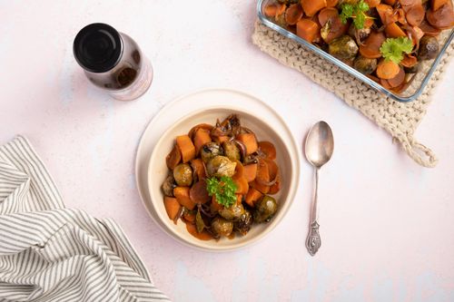
<path fill-rule="evenodd" d="M 262 105 L 266 106 L 267 110 L 271 110 L 267 105 L 263 103 Z M 173 236 L 173 238 L 192 247 L 209 250 L 232 250 L 262 239 L 284 218 L 295 196 L 299 182 L 299 157 L 297 153 L 298 149 L 289 129 L 280 118 L 271 120 L 273 124 L 269 124 L 254 114 L 257 112 L 250 112 L 244 108 L 247 108 L 247 106 L 238 107 L 227 105 L 203 108 L 191 112 L 174 122 L 154 145 L 148 166 L 148 190 L 151 197 L 151 205 L 147 206 L 147 209 L 153 209 L 150 211 L 150 214 L 164 231 Z M 279 209 L 270 222 L 254 224 L 246 236 L 237 235 L 234 239 L 223 238 L 219 241 L 202 241 L 188 233 L 181 219 L 175 225 L 166 214 L 163 205 L 163 192 L 161 190 L 163 180 L 168 175 L 165 157 L 172 150 L 177 135 L 189 132 L 192 126 L 198 123 L 214 124 L 216 119 L 222 120 L 232 113 L 239 115 L 242 125 L 255 132 L 259 141 L 271 141 L 276 147 L 276 161 L 281 170 L 281 190 L 278 194 L 273 195 L 273 197 L 278 200 Z M 275 114 L 275 112 L 273 113 Z M 279 124 L 277 124 L 278 122 Z"/>

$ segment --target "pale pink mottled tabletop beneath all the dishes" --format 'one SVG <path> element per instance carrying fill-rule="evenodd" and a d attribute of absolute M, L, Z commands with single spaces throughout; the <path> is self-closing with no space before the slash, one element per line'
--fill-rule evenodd
<path fill-rule="evenodd" d="M 251 43 L 249 1 L 0 2 L 0 143 L 22 133 L 54 176 L 67 207 L 111 217 L 129 234 L 155 284 L 175 301 L 453 301 L 454 95 L 451 69 L 416 133 L 439 156 L 419 167 L 390 136 Z M 74 34 L 104 22 L 152 60 L 153 86 L 118 102 L 74 62 Z M 304 247 L 312 170 L 286 219 L 262 242 L 212 254 L 186 248 L 147 216 L 134 184 L 135 150 L 166 102 L 206 87 L 270 103 L 301 141 L 331 123 L 321 170 L 322 247 Z"/>

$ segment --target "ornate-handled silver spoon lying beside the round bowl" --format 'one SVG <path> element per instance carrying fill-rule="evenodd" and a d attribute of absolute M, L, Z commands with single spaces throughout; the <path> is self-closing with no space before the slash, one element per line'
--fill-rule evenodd
<path fill-rule="evenodd" d="M 333 150 L 334 138 L 332 137 L 330 126 L 323 121 L 315 123 L 306 137 L 306 144 L 304 147 L 307 160 L 311 162 L 311 165 L 315 168 L 315 193 L 311 209 L 309 234 L 308 239 L 306 240 L 306 248 L 308 248 L 311 256 L 314 256 L 321 246 L 317 210 L 319 169 L 322 165 L 330 161 Z"/>

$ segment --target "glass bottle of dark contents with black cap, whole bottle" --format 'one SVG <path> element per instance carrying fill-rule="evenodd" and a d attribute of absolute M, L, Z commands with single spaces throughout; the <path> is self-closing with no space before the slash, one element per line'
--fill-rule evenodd
<path fill-rule="evenodd" d="M 73 51 L 90 82 L 115 99 L 134 100 L 152 83 L 152 64 L 139 46 L 108 24 L 85 26 L 75 36 Z"/>

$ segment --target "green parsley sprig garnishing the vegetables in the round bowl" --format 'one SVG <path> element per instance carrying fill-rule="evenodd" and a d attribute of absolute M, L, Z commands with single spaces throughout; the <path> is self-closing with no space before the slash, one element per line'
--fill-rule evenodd
<path fill-rule="evenodd" d="M 206 180 L 208 195 L 216 198 L 216 201 L 224 207 L 230 207 L 236 201 L 236 184 L 231 177 L 222 176 L 221 180 L 215 177 Z"/>

